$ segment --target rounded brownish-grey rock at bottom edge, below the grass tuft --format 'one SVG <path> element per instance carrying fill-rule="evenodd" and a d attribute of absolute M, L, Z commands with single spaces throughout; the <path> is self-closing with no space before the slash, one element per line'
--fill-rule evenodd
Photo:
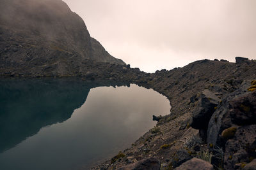
<path fill-rule="evenodd" d="M 213 166 L 206 162 L 205 160 L 193 158 L 184 162 L 181 166 L 176 167 L 175 170 L 196 170 L 196 169 L 204 169 L 204 170 L 213 170 Z"/>

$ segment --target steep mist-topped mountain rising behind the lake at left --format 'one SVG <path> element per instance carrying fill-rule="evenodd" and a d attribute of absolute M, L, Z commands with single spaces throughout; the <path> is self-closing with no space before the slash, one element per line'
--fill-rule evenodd
<path fill-rule="evenodd" d="M 64 75 L 79 72 L 84 59 L 125 65 L 61 0 L 1 0 L 0 11 L 0 69 L 6 74 L 48 68 Z"/>

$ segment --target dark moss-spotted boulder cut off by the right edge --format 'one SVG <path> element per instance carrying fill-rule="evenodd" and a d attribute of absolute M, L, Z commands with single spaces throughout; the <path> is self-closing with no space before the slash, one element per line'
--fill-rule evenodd
<path fill-rule="evenodd" d="M 237 125 L 256 124 L 256 91 L 230 101 L 230 117 Z"/>

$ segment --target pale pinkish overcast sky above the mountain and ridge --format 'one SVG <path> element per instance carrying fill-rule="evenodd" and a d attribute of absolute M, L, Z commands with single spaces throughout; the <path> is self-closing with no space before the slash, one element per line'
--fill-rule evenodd
<path fill-rule="evenodd" d="M 131 67 L 256 59 L 255 0 L 63 0 L 90 35 Z"/>

